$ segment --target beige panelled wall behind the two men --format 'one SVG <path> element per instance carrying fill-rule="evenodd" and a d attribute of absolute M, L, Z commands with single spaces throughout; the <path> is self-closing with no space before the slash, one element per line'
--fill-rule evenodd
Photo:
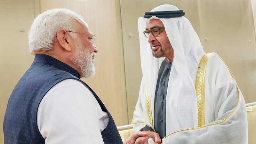
<path fill-rule="evenodd" d="M 0 143 L 8 99 L 34 60 L 28 47 L 29 27 L 39 13 L 59 7 L 81 14 L 97 36 L 96 74 L 82 80 L 103 101 L 126 139 L 132 133 L 128 124 L 142 77 L 137 20 L 161 4 L 184 10 L 204 51 L 216 52 L 226 62 L 248 103 L 248 137 L 254 143 L 256 0 L 0 0 Z"/>

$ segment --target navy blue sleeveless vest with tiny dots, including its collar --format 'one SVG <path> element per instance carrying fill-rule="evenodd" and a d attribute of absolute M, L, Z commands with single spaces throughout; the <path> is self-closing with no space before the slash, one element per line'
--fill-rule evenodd
<path fill-rule="evenodd" d="M 67 64 L 44 54 L 37 54 L 30 68 L 12 91 L 4 116 L 4 143 L 39 144 L 44 138 L 37 127 L 37 108 L 44 95 L 65 79 L 77 79 L 79 73 Z M 83 81 L 81 81 L 85 84 Z M 108 113 L 107 127 L 101 132 L 105 144 L 123 143 L 116 124 L 99 97 L 85 84 Z"/>

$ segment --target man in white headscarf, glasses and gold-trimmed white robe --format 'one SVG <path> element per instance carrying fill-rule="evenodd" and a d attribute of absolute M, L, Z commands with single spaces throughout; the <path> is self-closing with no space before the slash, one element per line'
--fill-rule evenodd
<path fill-rule="evenodd" d="M 248 143 L 243 95 L 184 14 L 165 4 L 138 20 L 143 77 L 134 131 L 159 134 L 163 143 Z"/>

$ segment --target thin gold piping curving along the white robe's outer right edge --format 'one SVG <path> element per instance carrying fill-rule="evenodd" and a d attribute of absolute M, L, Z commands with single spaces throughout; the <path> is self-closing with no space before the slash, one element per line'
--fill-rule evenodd
<path fill-rule="evenodd" d="M 219 56 L 219 55 L 218 55 L 218 56 Z M 221 59 L 220 56 L 219 56 L 219 58 Z M 221 60 L 222 60 L 222 59 L 221 59 Z M 223 61 L 223 60 L 222 60 L 222 61 Z M 224 62 L 224 61 L 223 61 L 223 62 Z M 226 65 L 225 62 L 224 62 L 224 64 Z M 227 65 L 226 65 L 226 67 L 228 68 Z M 230 75 L 234 78 L 234 76 L 233 76 L 233 74 L 231 73 L 231 71 L 229 70 L 229 68 L 228 68 L 228 71 L 229 71 Z M 234 78 L 234 80 L 235 80 L 235 78 Z M 235 80 L 235 81 L 236 81 L 236 80 Z M 206 126 L 211 126 L 211 125 L 215 125 L 215 124 L 221 124 L 221 123 L 225 122 L 230 116 L 232 116 L 232 115 L 236 112 L 236 110 L 237 110 L 237 108 L 238 108 L 238 106 L 239 106 L 239 104 L 240 104 L 241 95 L 240 95 L 240 90 L 239 90 L 237 84 L 236 84 L 236 88 L 237 88 L 237 91 L 238 91 L 238 103 L 237 103 L 237 105 L 236 105 L 235 110 L 234 110 L 227 118 L 225 118 L 223 121 L 220 121 L 220 122 L 214 123 L 214 124 L 207 124 L 207 125 L 204 125 L 204 126 L 201 126 L 201 127 L 196 127 L 196 128 L 191 128 L 191 129 L 180 130 L 180 131 L 177 131 L 177 132 L 188 131 L 188 130 L 196 130 L 196 129 L 200 129 L 200 128 L 203 128 L 203 127 L 206 127 Z M 174 133 L 177 133 L 177 132 L 173 132 L 173 133 L 171 133 L 171 134 L 168 134 L 168 135 L 165 136 L 163 139 L 165 139 L 166 137 L 168 137 L 168 136 L 170 136 L 170 135 L 172 135 L 172 134 L 174 134 Z"/>

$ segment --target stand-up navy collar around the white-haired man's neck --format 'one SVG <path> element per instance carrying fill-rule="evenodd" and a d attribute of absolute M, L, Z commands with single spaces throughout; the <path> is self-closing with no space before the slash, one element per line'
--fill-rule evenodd
<path fill-rule="evenodd" d="M 76 69 L 46 54 L 36 54 L 33 63 L 47 63 L 48 65 L 52 65 L 79 78 L 79 73 Z"/>

